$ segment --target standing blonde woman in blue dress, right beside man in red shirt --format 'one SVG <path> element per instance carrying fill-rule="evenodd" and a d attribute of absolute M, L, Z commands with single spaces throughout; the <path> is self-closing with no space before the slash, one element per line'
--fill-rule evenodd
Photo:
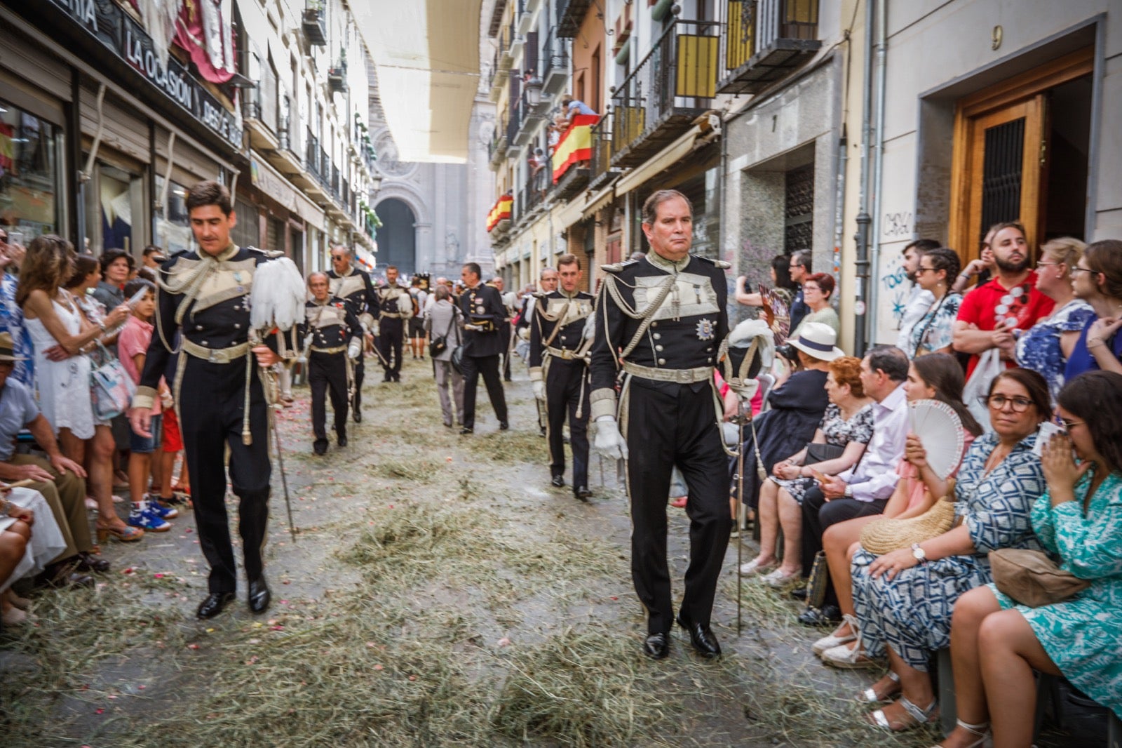
<path fill-rule="evenodd" d="M 1040 372 L 1048 382 L 1052 402 L 1064 387 L 1064 368 L 1075 349 L 1079 331 L 1095 316 L 1086 301 L 1072 290 L 1072 268 L 1086 245 L 1069 236 L 1040 247 L 1037 261 L 1037 291 L 1056 302 L 1054 311 L 1024 331 L 1015 343 L 1017 363 Z"/>

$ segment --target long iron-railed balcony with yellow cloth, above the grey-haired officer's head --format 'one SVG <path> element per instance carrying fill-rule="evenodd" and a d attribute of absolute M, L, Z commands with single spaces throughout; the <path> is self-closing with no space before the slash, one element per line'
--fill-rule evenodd
<path fill-rule="evenodd" d="M 635 166 L 690 128 L 717 93 L 717 21 L 675 20 L 613 94 L 613 166 Z"/>

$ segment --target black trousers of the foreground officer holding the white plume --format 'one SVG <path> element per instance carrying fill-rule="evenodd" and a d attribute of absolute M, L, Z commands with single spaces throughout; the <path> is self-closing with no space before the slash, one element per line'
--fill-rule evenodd
<path fill-rule="evenodd" d="M 186 356 L 186 353 L 180 354 Z M 257 364 L 251 364 L 257 368 Z M 238 496 L 246 577 L 261 576 L 261 551 L 269 517 L 268 405 L 256 371 L 249 383 L 249 428 L 252 444 L 241 438 L 245 412 L 246 359 L 212 364 L 188 357 L 180 383 L 180 430 L 187 468 L 199 545 L 210 564 L 211 592 L 234 592 L 238 569 L 226 512 L 226 446 L 230 447 L 230 483 Z"/>

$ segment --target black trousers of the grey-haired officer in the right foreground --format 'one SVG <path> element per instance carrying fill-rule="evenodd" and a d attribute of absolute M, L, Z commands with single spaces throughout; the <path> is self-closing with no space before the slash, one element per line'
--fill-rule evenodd
<path fill-rule="evenodd" d="M 666 498 L 677 464 L 689 486 L 690 565 L 682 618 L 708 624 L 733 530 L 728 466 L 714 410 L 712 384 L 670 384 L 632 377 L 625 425 L 629 457 L 632 578 L 646 608 L 647 632 L 674 620 L 666 565 Z"/>

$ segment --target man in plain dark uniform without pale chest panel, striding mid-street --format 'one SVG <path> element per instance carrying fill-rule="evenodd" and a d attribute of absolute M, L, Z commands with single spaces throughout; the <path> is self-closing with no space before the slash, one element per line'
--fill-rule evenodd
<path fill-rule="evenodd" d="M 505 431 L 509 427 L 506 418 L 506 395 L 498 374 L 498 357 L 503 353 L 499 325 L 506 323 L 506 308 L 498 290 L 479 282 L 479 265 L 468 263 L 460 272 L 467 286 L 460 294 L 460 311 L 466 320 L 463 326 L 463 428 L 460 434 L 471 434 L 476 429 L 476 387 L 479 375 L 487 385 L 498 427 Z"/>

